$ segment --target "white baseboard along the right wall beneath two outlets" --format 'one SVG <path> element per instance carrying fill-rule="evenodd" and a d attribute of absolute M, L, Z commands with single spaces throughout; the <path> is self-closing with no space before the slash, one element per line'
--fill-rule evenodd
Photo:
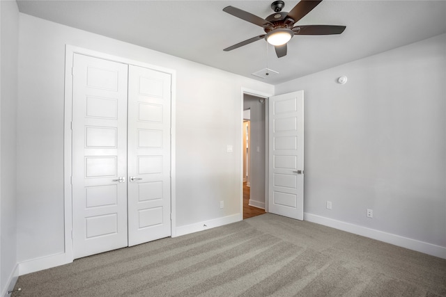
<path fill-rule="evenodd" d="M 432 255 L 446 259 L 446 248 L 443 246 L 436 246 L 432 243 L 424 241 L 418 241 L 416 239 L 410 239 L 407 237 L 362 227 L 360 225 L 354 225 L 351 223 L 342 222 L 341 220 L 334 220 L 332 218 L 325 218 L 323 216 L 317 216 L 315 214 L 304 214 L 304 220 L 308 220 L 312 223 L 317 223 L 332 227 L 334 229 L 350 232 L 353 234 L 369 237 L 378 241 L 391 243 L 395 246 L 401 246 L 401 248 L 408 248 L 409 250 L 416 250 L 417 252 L 424 252 L 424 254 Z"/>

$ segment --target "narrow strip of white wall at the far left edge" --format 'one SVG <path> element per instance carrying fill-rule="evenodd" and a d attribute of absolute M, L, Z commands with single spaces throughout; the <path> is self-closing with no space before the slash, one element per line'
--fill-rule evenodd
<path fill-rule="evenodd" d="M 0 296 L 17 280 L 16 120 L 19 11 L 0 1 Z"/>

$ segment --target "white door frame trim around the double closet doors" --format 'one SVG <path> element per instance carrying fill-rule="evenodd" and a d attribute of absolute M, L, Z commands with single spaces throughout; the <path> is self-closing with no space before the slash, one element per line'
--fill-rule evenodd
<path fill-rule="evenodd" d="M 65 50 L 65 99 L 64 99 L 64 117 L 63 117 L 63 203 L 64 203 L 64 236 L 65 236 L 65 255 L 66 262 L 72 262 L 74 259 L 72 248 L 72 67 L 74 54 L 82 54 L 101 58 L 103 60 L 114 61 L 118 63 L 136 65 L 152 70 L 164 72 L 171 75 L 171 237 L 176 236 L 176 166 L 175 166 L 175 136 L 176 136 L 176 70 L 165 67 L 151 65 L 141 61 L 134 61 L 129 58 L 113 56 L 91 49 L 66 45 Z"/>

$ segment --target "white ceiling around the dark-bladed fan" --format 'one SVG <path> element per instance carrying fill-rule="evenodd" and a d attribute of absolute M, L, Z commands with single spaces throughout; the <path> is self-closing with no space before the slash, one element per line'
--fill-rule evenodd
<path fill-rule="evenodd" d="M 263 29 L 224 13 L 226 6 L 265 18 L 270 1 L 17 0 L 22 13 L 277 84 L 446 33 L 446 1 L 325 0 L 297 24 L 347 26 L 341 35 L 296 35 L 277 58 L 265 40 L 223 51 Z M 289 11 L 298 0 L 285 1 Z M 254 77 L 267 66 L 279 74 Z"/>

